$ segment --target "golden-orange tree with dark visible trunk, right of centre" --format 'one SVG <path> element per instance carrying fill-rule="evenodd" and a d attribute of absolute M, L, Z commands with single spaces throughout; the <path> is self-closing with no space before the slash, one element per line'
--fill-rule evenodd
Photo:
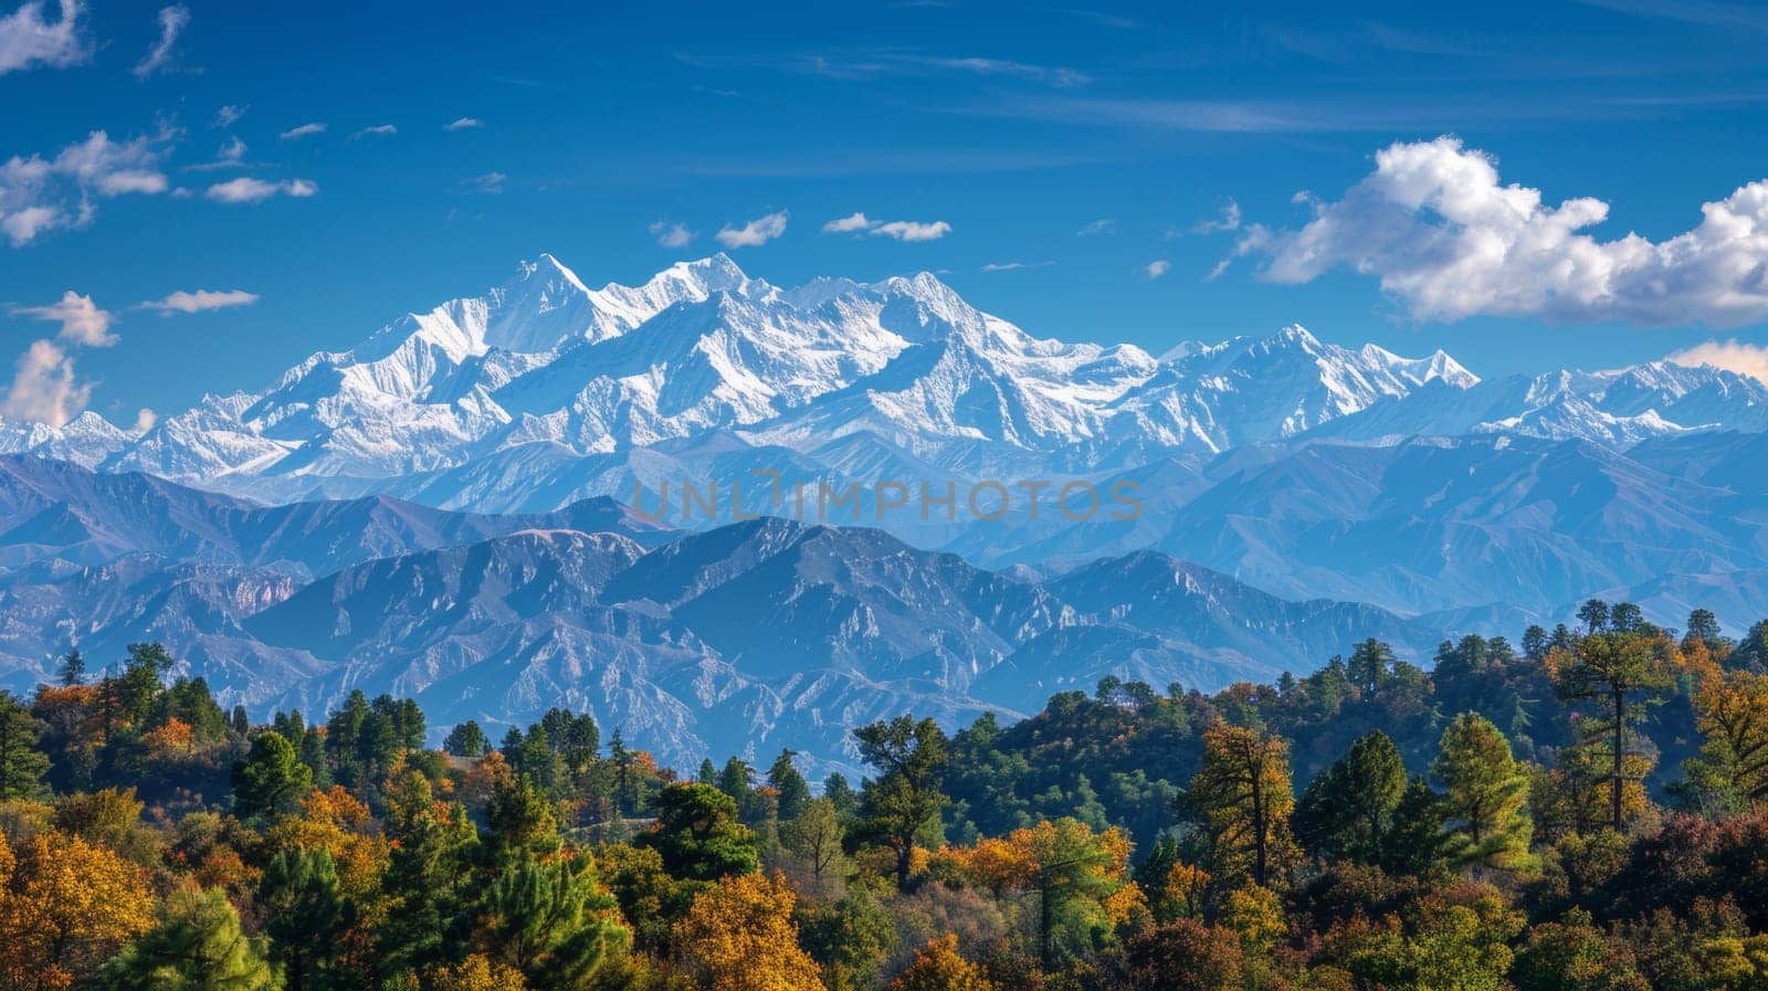
<path fill-rule="evenodd" d="M 1192 777 L 1192 809 L 1209 830 L 1218 876 L 1266 885 L 1294 862 L 1289 814 L 1289 745 L 1245 726 L 1204 731 L 1202 767 Z"/>

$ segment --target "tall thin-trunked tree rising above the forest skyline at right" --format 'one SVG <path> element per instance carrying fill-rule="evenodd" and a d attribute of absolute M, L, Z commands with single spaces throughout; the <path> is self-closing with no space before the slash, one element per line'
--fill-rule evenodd
<path fill-rule="evenodd" d="M 1604 768 L 1609 828 L 1621 832 L 1628 818 L 1628 791 L 1642 788 L 1653 763 L 1639 722 L 1644 708 L 1671 685 L 1658 641 L 1630 631 L 1591 632 L 1577 643 L 1577 650 L 1549 652 L 1547 668 L 1561 700 L 1593 708 L 1577 722 L 1579 749 Z"/>

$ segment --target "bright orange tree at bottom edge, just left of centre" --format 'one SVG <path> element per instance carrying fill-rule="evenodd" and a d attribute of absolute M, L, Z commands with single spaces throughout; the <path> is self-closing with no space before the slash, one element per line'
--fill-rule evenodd
<path fill-rule="evenodd" d="M 675 956 L 705 991 L 822 991 L 817 963 L 797 945 L 783 876 L 735 874 L 693 899 L 675 924 Z"/>

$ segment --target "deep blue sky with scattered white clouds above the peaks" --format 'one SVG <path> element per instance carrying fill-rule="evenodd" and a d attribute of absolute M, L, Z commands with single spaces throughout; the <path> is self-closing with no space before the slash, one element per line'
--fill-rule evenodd
<path fill-rule="evenodd" d="M 1041 336 L 1768 367 L 1759 7 L 599 7 L 0 0 L 0 357 L 127 426 L 783 212 L 751 276 L 935 270 Z"/>

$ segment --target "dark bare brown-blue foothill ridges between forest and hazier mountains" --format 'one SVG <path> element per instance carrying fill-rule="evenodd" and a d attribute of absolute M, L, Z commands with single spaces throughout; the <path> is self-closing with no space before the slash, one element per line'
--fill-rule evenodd
<path fill-rule="evenodd" d="M 849 730 L 884 715 L 1017 715 L 1105 675 L 1215 689 L 1310 669 L 1365 636 L 1414 659 L 1444 636 L 1160 553 L 1036 581 L 880 530 L 778 518 L 675 535 L 573 507 L 534 526 L 392 500 L 265 509 L 140 475 L 12 468 L 0 546 L 27 562 L 0 578 L 12 687 L 71 647 L 101 666 L 159 639 L 258 712 L 322 712 L 352 689 L 417 698 L 438 726 L 569 705 L 677 763 L 794 747 L 850 768 Z M 592 526 L 605 521 L 628 532 Z M 396 549 L 373 556 L 382 548 Z"/>

